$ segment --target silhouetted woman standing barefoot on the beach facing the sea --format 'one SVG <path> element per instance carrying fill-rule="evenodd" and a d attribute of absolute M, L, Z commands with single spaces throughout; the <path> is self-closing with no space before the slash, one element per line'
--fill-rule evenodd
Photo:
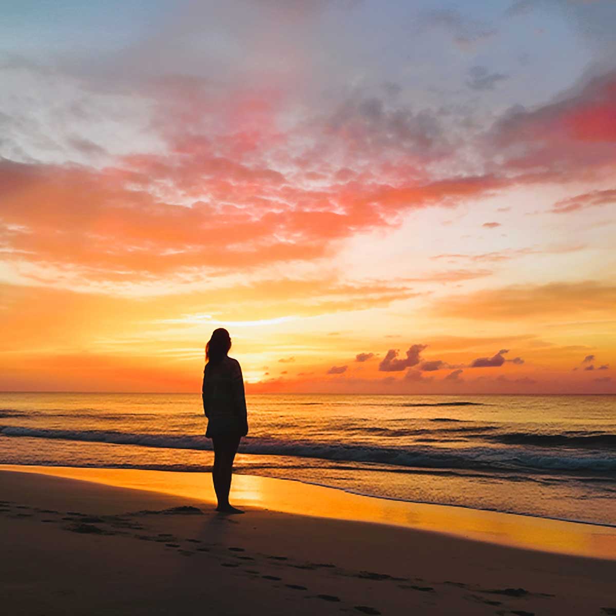
<path fill-rule="evenodd" d="M 214 330 L 205 347 L 208 363 L 203 370 L 203 412 L 208 418 L 206 437 L 214 445 L 214 492 L 218 499 L 216 511 L 244 513 L 229 505 L 233 458 L 240 439 L 248 433 L 244 379 L 237 359 L 227 355 L 231 348 L 229 332 Z"/>

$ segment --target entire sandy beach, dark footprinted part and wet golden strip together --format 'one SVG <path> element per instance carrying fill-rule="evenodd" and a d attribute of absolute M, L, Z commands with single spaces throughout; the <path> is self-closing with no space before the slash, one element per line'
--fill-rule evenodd
<path fill-rule="evenodd" d="M 384 524 L 387 501 L 249 476 L 225 517 L 200 474 L 2 469 L 4 614 L 616 614 L 615 529 L 408 503 Z"/>

